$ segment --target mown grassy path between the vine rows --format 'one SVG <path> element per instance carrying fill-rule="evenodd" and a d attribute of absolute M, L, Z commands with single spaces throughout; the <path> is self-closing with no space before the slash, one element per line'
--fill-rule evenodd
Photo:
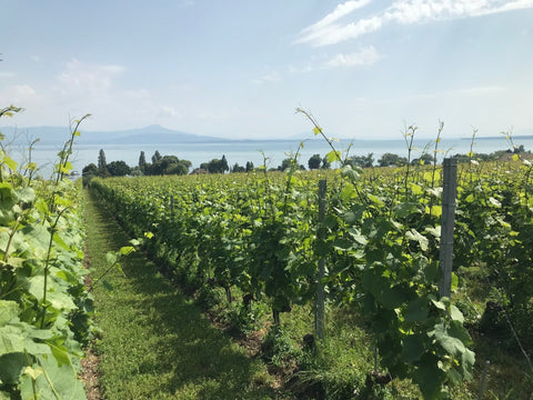
<path fill-rule="evenodd" d="M 84 193 L 87 257 L 105 268 L 105 252 L 128 236 L 92 194 Z M 94 291 L 100 387 L 105 399 L 276 399 L 264 364 L 213 327 L 141 252 L 112 271 L 113 291 Z"/>

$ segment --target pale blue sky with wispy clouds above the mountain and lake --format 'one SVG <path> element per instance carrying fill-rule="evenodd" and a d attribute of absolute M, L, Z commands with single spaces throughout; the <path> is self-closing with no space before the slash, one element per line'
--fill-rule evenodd
<path fill-rule="evenodd" d="M 533 134 L 533 0 L 0 0 L 0 126 Z M 312 133 L 310 133 L 312 134 Z"/>

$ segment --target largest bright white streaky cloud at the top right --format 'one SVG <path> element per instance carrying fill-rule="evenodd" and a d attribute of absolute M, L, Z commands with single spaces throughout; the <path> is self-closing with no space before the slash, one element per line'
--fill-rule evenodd
<path fill-rule="evenodd" d="M 350 8 L 350 3 L 338 6 L 319 22 L 304 28 L 295 43 L 329 46 L 378 31 L 390 22 L 410 24 L 533 8 L 533 0 L 396 0 L 376 16 L 344 24 L 334 23 L 338 16 L 343 17 L 356 9 L 354 4 Z"/>

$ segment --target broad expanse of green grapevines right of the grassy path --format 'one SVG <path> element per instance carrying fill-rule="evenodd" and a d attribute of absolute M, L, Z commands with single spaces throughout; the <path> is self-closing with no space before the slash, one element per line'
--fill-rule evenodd
<path fill-rule="evenodd" d="M 487 279 L 509 293 L 512 316 L 531 318 L 530 166 L 479 168 L 460 172 L 456 264 L 505 271 Z M 275 322 L 314 298 L 316 261 L 326 257 L 329 301 L 361 312 L 381 364 L 418 382 L 426 398 L 445 398 L 447 387 L 471 378 L 474 354 L 462 312 L 436 288 L 441 171 L 383 172 L 369 178 L 346 166 L 326 174 L 323 226 L 315 193 L 323 172 L 95 180 L 93 188 L 135 234 L 154 233 L 150 250 L 190 289 L 215 283 L 231 300 L 237 287 L 266 299 Z M 325 242 L 316 241 L 319 227 Z"/>

